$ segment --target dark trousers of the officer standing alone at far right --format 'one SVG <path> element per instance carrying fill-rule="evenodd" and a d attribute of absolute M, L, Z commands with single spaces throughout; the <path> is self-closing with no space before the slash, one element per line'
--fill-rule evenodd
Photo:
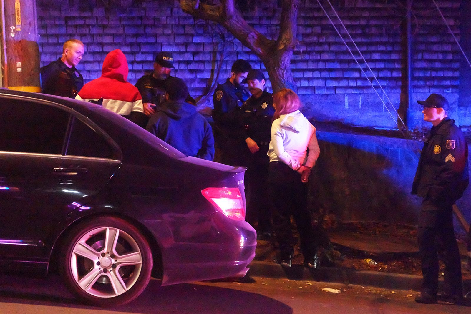
<path fill-rule="evenodd" d="M 461 258 L 453 230 L 452 205 L 446 201 L 424 199 L 419 214 L 417 237 L 422 261 L 422 292 L 432 296 L 438 291 L 440 248 L 443 248 L 445 264 L 445 289 L 453 295 L 463 295 Z"/>

